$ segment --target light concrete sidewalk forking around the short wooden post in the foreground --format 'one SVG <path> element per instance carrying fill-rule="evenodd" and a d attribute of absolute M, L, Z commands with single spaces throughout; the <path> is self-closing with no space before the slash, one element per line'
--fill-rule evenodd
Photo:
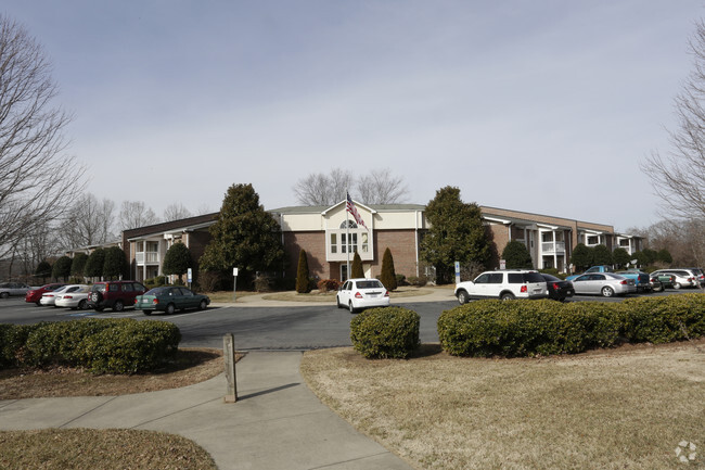
<path fill-rule="evenodd" d="M 123 428 L 183 435 L 220 470 L 411 469 L 331 411 L 306 386 L 300 352 L 248 353 L 236 365 L 235 404 L 225 376 L 123 396 L 0 401 L 0 430 Z"/>

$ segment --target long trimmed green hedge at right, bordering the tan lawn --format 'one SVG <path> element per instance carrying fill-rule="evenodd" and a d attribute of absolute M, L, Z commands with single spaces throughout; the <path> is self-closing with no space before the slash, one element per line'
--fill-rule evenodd
<path fill-rule="evenodd" d="M 443 348 L 457 356 L 574 354 L 631 343 L 705 335 L 705 295 L 628 298 L 620 303 L 477 301 L 438 318 Z"/>

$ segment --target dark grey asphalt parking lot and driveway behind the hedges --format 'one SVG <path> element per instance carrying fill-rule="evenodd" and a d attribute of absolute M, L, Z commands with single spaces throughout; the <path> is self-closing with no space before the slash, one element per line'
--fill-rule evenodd
<path fill-rule="evenodd" d="M 701 290 L 666 291 L 649 295 L 679 295 Z M 633 296 L 633 295 L 631 295 Z M 572 302 L 620 302 L 623 297 L 603 298 L 576 296 Z M 457 302 L 402 302 L 400 305 L 416 312 L 421 317 L 420 339 L 424 343 L 438 342 L 436 322 L 439 315 L 454 307 Z M 136 318 L 171 321 L 181 330 L 182 346 L 222 347 L 222 336 L 233 333 L 235 347 L 247 350 L 311 350 L 349 346 L 350 319 L 347 309 L 334 305 L 300 307 L 209 307 L 206 310 L 188 310 L 175 315 L 144 316 L 127 309 L 123 313 L 104 310 L 70 310 L 38 307 L 27 304 L 24 297 L 0 298 L 0 323 L 36 323 L 64 321 L 77 318 Z"/>

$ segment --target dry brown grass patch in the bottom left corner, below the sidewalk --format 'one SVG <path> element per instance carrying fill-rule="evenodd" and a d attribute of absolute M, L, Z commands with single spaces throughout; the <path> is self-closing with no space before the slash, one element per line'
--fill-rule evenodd
<path fill-rule="evenodd" d="M 0 432 L 0 468 L 217 469 L 208 453 L 188 439 L 163 432 L 117 429 Z"/>

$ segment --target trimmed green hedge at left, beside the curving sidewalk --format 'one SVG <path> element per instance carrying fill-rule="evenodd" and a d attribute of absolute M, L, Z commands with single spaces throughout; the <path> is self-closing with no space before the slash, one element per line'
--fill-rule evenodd
<path fill-rule="evenodd" d="M 0 367 L 62 365 L 134 373 L 174 359 L 180 341 L 172 323 L 132 318 L 0 325 Z"/>

